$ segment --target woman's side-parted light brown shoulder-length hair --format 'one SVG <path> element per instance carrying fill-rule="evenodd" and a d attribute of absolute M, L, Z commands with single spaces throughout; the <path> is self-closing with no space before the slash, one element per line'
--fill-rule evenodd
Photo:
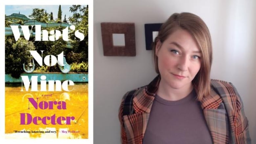
<path fill-rule="evenodd" d="M 160 41 L 162 44 L 170 34 L 179 28 L 188 31 L 192 35 L 199 50 L 202 52 L 200 70 L 192 80 L 192 84 L 197 92 L 197 99 L 201 101 L 203 96 L 210 94 L 211 90 L 212 42 L 210 32 L 199 16 L 188 12 L 174 13 L 162 24 L 158 36 L 152 45 L 155 70 L 159 74 L 158 57 L 155 51 L 157 42 Z"/>

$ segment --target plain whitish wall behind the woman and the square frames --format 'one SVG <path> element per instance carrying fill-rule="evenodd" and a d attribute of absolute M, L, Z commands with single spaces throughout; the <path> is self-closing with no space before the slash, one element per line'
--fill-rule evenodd
<path fill-rule="evenodd" d="M 120 143 L 123 94 L 156 76 L 144 24 L 164 22 L 174 12 L 192 12 L 205 21 L 214 49 L 211 77 L 236 86 L 256 143 L 255 8 L 254 0 L 94 0 L 94 143 Z M 136 56 L 103 56 L 101 22 L 134 22 Z"/>

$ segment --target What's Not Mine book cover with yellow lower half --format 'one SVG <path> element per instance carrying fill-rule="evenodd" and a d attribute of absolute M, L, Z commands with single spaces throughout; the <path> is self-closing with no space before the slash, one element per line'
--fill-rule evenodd
<path fill-rule="evenodd" d="M 88 5 L 5 5 L 5 138 L 88 139 Z"/>

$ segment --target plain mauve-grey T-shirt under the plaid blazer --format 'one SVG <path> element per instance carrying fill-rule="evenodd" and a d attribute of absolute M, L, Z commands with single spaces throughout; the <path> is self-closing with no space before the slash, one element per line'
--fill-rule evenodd
<path fill-rule="evenodd" d="M 195 90 L 178 101 L 156 95 L 143 144 L 212 144 Z"/>

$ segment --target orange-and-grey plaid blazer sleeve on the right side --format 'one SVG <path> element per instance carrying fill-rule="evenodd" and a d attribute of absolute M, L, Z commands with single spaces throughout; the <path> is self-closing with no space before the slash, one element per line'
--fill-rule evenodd
<path fill-rule="evenodd" d="M 248 130 L 248 120 L 244 112 L 244 105 L 235 86 L 230 82 L 221 80 L 212 80 L 211 84 L 212 88 L 216 88 L 223 99 L 225 109 L 229 117 L 229 125 L 231 126 L 230 131 L 233 132 L 235 141 L 251 143 Z"/>

